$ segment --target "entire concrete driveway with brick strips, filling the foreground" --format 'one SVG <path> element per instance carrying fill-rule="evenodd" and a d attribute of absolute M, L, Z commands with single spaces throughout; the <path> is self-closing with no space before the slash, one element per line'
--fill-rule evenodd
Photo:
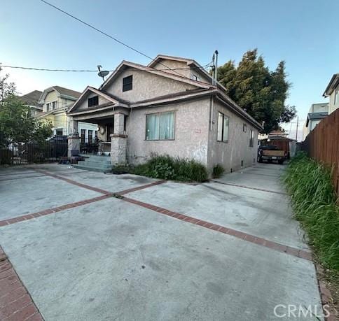
<path fill-rule="evenodd" d="M 288 315 L 320 314 L 321 302 L 283 170 L 200 185 L 57 164 L 1 170 L 0 319 L 323 320 Z M 30 297 L 13 297 L 13 284 Z"/>

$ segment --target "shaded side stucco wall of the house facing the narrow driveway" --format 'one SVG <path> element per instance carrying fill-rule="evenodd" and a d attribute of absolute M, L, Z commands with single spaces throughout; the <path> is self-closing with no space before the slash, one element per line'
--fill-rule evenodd
<path fill-rule="evenodd" d="M 217 141 L 218 112 L 230 118 L 228 143 Z M 243 124 L 247 124 L 247 131 L 243 131 Z M 254 131 L 254 144 L 249 147 L 250 129 Z M 221 164 L 226 172 L 243 166 L 251 166 L 256 162 L 258 149 L 258 129 L 254 128 L 243 118 L 235 115 L 220 102 L 214 101 L 212 131 L 209 132 L 208 167 L 212 170 L 216 164 Z"/>

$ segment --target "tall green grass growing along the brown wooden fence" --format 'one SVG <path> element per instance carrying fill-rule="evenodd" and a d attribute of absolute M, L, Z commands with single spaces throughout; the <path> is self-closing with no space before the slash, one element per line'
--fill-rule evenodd
<path fill-rule="evenodd" d="M 339 271 L 339 206 L 331 170 L 300 152 L 283 176 L 296 219 L 310 237 L 322 264 Z"/>

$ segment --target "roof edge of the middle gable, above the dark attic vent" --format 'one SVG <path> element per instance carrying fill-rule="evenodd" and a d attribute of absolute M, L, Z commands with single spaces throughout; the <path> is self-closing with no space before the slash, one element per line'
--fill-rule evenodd
<path fill-rule="evenodd" d="M 177 81 L 180 81 L 181 83 L 188 83 L 189 85 L 193 85 L 195 87 L 201 87 L 201 88 L 212 87 L 212 85 L 210 85 L 210 84 L 203 83 L 203 82 L 197 81 L 197 80 L 192 80 L 192 79 L 186 78 L 184 76 L 177 75 L 175 73 L 168 73 L 168 72 L 165 72 L 165 71 L 153 69 L 153 68 L 148 67 L 148 66 L 144 66 L 142 64 L 135 64 L 134 62 L 127 62 L 126 60 L 123 60 L 119 64 L 119 66 L 116 68 L 116 70 L 113 73 L 111 73 L 111 76 L 109 76 L 109 78 L 107 78 L 106 81 L 99 87 L 99 90 L 104 90 L 111 83 L 111 81 L 113 81 L 113 79 L 116 78 L 116 76 L 118 76 L 118 74 L 120 74 L 121 71 L 123 71 L 124 69 L 127 69 L 127 68 L 134 68 L 134 69 L 137 69 L 137 71 L 144 71 L 144 72 L 147 72 L 147 73 L 153 73 L 154 75 L 162 76 L 162 77 L 165 77 L 165 78 L 170 78 L 172 80 L 177 80 Z"/>

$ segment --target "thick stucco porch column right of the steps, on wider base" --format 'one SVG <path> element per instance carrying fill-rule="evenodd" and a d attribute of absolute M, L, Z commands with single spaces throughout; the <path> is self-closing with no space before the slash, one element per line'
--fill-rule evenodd
<path fill-rule="evenodd" d="M 111 134 L 111 164 L 125 165 L 127 152 L 127 135 L 124 134 L 125 115 L 114 114 L 114 134 Z"/>

